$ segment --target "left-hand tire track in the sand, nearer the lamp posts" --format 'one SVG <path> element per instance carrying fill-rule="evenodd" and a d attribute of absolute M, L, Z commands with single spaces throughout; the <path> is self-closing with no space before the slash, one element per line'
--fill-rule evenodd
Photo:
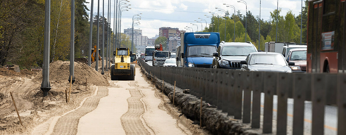
<path fill-rule="evenodd" d="M 86 98 L 83 105 L 58 119 L 56 122 L 53 133 L 54 135 L 75 135 L 77 133 L 79 119 L 85 114 L 94 110 L 102 97 L 108 95 L 107 87 L 99 87 L 95 96 Z"/>

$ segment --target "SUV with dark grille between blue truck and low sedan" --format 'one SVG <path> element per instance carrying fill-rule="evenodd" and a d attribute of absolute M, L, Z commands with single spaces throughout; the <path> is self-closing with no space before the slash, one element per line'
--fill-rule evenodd
<path fill-rule="evenodd" d="M 251 42 L 221 42 L 213 53 L 213 68 L 240 69 L 240 61 L 245 60 L 251 52 L 257 52 Z"/>

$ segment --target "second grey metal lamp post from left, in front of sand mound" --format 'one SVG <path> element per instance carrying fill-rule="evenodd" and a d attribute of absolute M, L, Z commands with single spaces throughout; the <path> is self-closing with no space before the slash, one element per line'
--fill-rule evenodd
<path fill-rule="evenodd" d="M 70 76 L 69 81 L 72 79 L 74 83 L 74 0 L 71 0 L 71 37 L 70 37 Z M 71 78 L 72 76 L 72 78 Z"/>

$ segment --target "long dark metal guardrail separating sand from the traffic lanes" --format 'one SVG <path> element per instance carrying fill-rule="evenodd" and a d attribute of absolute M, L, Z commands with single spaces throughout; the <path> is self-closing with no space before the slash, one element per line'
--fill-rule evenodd
<path fill-rule="evenodd" d="M 138 61 L 153 76 L 170 84 L 176 81 L 177 87 L 190 89 L 190 94 L 203 97 L 243 123 L 251 123 L 252 128 L 260 128 L 261 93 L 264 93 L 263 133 L 272 133 L 274 95 L 277 95 L 277 134 L 286 134 L 288 98 L 294 99 L 293 135 L 303 134 L 306 100 L 312 102 L 313 135 L 324 134 L 325 105 L 338 107 L 337 132 L 346 133 L 346 74 L 153 67 L 142 59 Z"/>

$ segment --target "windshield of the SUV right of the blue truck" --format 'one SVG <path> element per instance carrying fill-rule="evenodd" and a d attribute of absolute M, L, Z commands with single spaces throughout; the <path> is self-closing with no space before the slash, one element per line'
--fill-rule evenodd
<path fill-rule="evenodd" d="M 252 46 L 224 46 L 222 56 L 247 56 L 251 52 L 256 52 Z"/>

